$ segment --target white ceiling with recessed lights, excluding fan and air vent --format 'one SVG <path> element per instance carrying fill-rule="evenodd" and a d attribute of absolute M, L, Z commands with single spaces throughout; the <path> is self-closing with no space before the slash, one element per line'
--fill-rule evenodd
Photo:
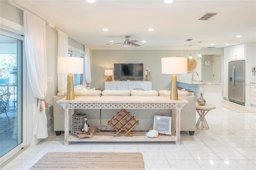
<path fill-rule="evenodd" d="M 11 0 L 10 3 L 33 12 L 91 49 L 199 49 L 256 42 L 255 0 L 174 0 L 169 4 L 163 0 L 96 0 L 95 3 Z M 207 12 L 218 14 L 209 20 L 197 20 Z M 242 37 L 237 38 L 238 35 Z M 110 40 L 124 42 L 124 36 L 138 40 L 140 46 L 106 45 Z"/>

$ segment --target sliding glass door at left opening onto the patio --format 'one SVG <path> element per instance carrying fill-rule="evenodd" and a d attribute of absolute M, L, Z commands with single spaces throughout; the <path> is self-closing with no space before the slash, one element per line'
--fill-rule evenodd
<path fill-rule="evenodd" d="M 22 108 L 23 37 L 0 34 L 0 162 L 21 150 L 24 139 Z M 19 147 L 20 146 L 20 147 Z"/>

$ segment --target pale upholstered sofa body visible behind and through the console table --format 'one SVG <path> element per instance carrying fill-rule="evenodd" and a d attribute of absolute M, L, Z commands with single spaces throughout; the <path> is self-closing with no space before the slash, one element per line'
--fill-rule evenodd
<path fill-rule="evenodd" d="M 61 131 L 64 131 L 64 109 L 57 103 L 58 100 L 66 98 L 66 96 L 54 96 L 53 97 L 53 117 L 54 117 L 54 131 L 56 135 L 60 135 Z M 104 96 L 101 96 L 104 97 Z M 131 96 L 129 96 L 131 97 Z M 159 96 L 158 96 L 159 97 Z M 180 111 L 180 130 L 189 131 L 190 135 L 194 134 L 196 130 L 196 97 L 195 96 L 182 96 L 182 99 L 188 101 L 188 103 L 182 107 Z M 130 112 L 135 119 L 140 123 L 132 131 L 146 131 L 151 130 L 153 127 L 154 115 L 172 116 L 171 109 L 126 109 Z M 120 109 L 74 109 L 74 113 L 85 113 L 88 119 L 88 124 L 93 127 L 97 125 L 107 126 L 101 128 L 101 130 L 112 130 L 108 124 L 108 121 L 116 115 Z M 70 115 L 72 116 L 72 115 Z M 70 130 L 72 126 L 70 120 Z"/>

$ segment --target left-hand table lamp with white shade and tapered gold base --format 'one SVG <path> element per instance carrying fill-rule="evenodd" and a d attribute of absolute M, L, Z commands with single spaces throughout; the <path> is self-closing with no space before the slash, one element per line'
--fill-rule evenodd
<path fill-rule="evenodd" d="M 68 74 L 67 100 L 74 100 L 74 80 L 72 74 L 84 73 L 84 59 L 80 57 L 58 57 L 57 73 Z"/>

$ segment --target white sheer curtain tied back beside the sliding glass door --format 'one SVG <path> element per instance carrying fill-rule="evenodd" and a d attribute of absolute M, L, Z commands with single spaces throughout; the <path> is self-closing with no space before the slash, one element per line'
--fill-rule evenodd
<path fill-rule="evenodd" d="M 28 77 L 34 96 L 38 98 L 32 135 L 36 138 L 46 138 L 48 137 L 44 103 L 47 91 L 46 22 L 26 10 L 23 16 Z"/>

